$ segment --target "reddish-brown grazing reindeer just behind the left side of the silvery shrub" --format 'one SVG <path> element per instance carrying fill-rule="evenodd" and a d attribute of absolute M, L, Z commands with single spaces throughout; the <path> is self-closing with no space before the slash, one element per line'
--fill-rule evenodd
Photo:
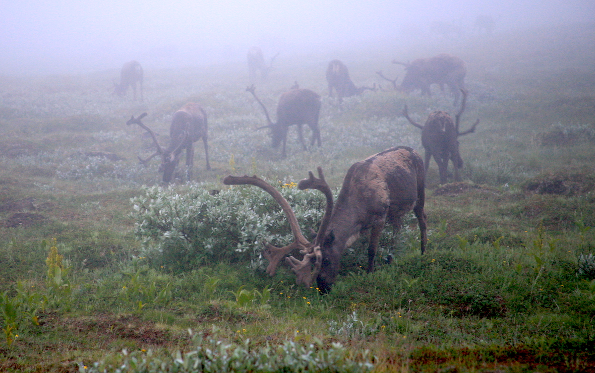
<path fill-rule="evenodd" d="M 181 152 L 186 149 L 186 177 L 188 180 L 192 178 L 192 166 L 194 164 L 194 146 L 193 143 L 202 139 L 202 143 L 205 145 L 205 159 L 206 169 L 211 170 L 209 165 L 209 146 L 207 140 L 207 126 L 206 126 L 206 113 L 202 109 L 201 105 L 189 102 L 182 106 L 180 110 L 174 112 L 173 118 L 171 118 L 170 126 L 170 145 L 167 148 L 161 148 L 155 133 L 151 128 L 145 126 L 142 123 L 142 118 L 146 117 L 147 113 L 143 112 L 138 118 L 130 118 L 126 122 L 127 125 L 138 124 L 144 128 L 152 137 L 157 147 L 157 151 L 146 159 L 142 159 L 139 156 L 139 161 L 142 164 L 149 162 L 154 156 L 161 155 L 161 165 L 159 166 L 159 172 L 163 173 L 163 182 L 169 183 L 174 175 L 174 170 L 178 165 L 181 158 Z"/>

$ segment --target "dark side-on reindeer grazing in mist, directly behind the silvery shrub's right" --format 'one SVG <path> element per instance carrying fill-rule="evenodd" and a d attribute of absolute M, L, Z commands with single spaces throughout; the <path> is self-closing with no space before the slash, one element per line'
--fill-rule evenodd
<path fill-rule="evenodd" d="M 255 86 L 249 86 L 246 88 L 247 92 L 252 93 L 258 104 L 264 109 L 264 114 L 267 117 L 267 126 L 258 127 L 271 128 L 271 134 L 273 135 L 273 148 L 277 149 L 280 143 L 283 143 L 281 147 L 281 155 L 287 156 L 285 146 L 287 142 L 287 131 L 289 126 L 297 126 L 297 137 L 302 143 L 303 149 L 306 150 L 306 144 L 303 141 L 302 135 L 302 124 L 308 124 L 312 130 L 312 139 L 310 140 L 310 146 L 314 145 L 314 142 L 318 142 L 318 146 L 321 146 L 320 140 L 320 128 L 318 128 L 318 116 L 320 115 L 320 96 L 317 93 L 312 92 L 309 89 L 292 89 L 289 92 L 283 93 L 279 98 L 279 104 L 277 105 L 277 123 L 273 123 L 271 118 L 268 116 L 267 108 L 262 104 L 262 101 L 256 96 Z"/>

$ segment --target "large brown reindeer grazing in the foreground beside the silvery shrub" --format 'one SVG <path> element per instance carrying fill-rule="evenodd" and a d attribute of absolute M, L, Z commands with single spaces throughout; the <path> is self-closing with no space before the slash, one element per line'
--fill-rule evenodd
<path fill-rule="evenodd" d="M 297 284 L 311 287 L 317 280 L 318 289 L 328 293 L 334 284 L 340 267 L 340 258 L 363 231 L 370 231 L 368 246 L 368 272 L 374 270 L 374 258 L 378 240 L 388 221 L 398 230 L 401 218 L 414 211 L 421 231 L 421 253 L 427 243 L 427 224 L 424 213 L 424 165 L 417 152 L 406 146 L 397 146 L 369 156 L 353 164 L 343 180 L 336 203 L 333 193 L 324 179 L 322 168 L 318 177 L 312 171 L 309 178 L 301 180 L 297 187 L 320 190 L 326 197 L 324 217 L 314 242 L 303 236 L 295 214 L 286 199 L 270 184 L 256 176 L 227 176 L 226 185 L 249 184 L 269 193 L 283 209 L 289 220 L 294 242 L 284 247 L 265 243 L 263 256 L 268 259 L 267 273 L 275 275 L 281 259 L 299 250 L 302 261 L 289 256 L 286 262 L 296 274 Z"/>

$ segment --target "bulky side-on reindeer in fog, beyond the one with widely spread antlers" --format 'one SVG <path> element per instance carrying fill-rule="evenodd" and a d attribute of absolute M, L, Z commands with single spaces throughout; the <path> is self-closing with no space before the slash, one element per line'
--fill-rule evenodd
<path fill-rule="evenodd" d="M 405 66 L 405 77 L 400 90 L 407 93 L 419 89 L 422 95 L 431 96 L 431 84 L 439 84 L 444 89 L 446 84 L 455 96 L 453 105 L 459 103 L 460 91 L 465 88 L 467 68 L 465 62 L 458 57 L 443 53 L 431 58 L 418 58 L 405 63 L 394 60 L 393 64 Z"/>

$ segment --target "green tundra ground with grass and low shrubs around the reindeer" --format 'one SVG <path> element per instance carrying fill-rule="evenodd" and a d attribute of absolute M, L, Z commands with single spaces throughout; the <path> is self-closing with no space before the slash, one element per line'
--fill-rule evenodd
<path fill-rule="evenodd" d="M 105 92 L 116 70 L 0 77 L 0 371 L 593 372 L 592 35 L 549 27 L 343 52 L 367 85 L 381 82 L 374 71 L 399 74 L 393 58 L 460 57 L 465 117 L 481 126 L 460 138 L 464 181 L 440 184 L 430 165 L 424 255 L 406 215 L 399 234 L 381 234 L 375 271 L 362 234 L 327 294 L 286 265 L 265 273 L 262 243 L 293 239 L 283 211 L 221 180 L 258 175 L 317 229 L 325 198 L 297 181 L 322 166 L 336 197 L 355 162 L 397 145 L 423 152 L 402 108 L 419 123 L 453 111 L 448 93 L 378 90 L 339 108 L 322 94 L 326 55 L 280 58 L 259 99 L 274 107 L 296 80 L 317 92 L 324 142 L 280 158 L 254 130 L 262 109 L 245 61 L 151 71 L 142 103 Z M 179 167 L 161 187 L 158 162 L 137 161 L 154 140 L 125 123 L 148 112 L 167 143 L 187 102 L 208 116 L 211 170 L 186 183 Z"/>

